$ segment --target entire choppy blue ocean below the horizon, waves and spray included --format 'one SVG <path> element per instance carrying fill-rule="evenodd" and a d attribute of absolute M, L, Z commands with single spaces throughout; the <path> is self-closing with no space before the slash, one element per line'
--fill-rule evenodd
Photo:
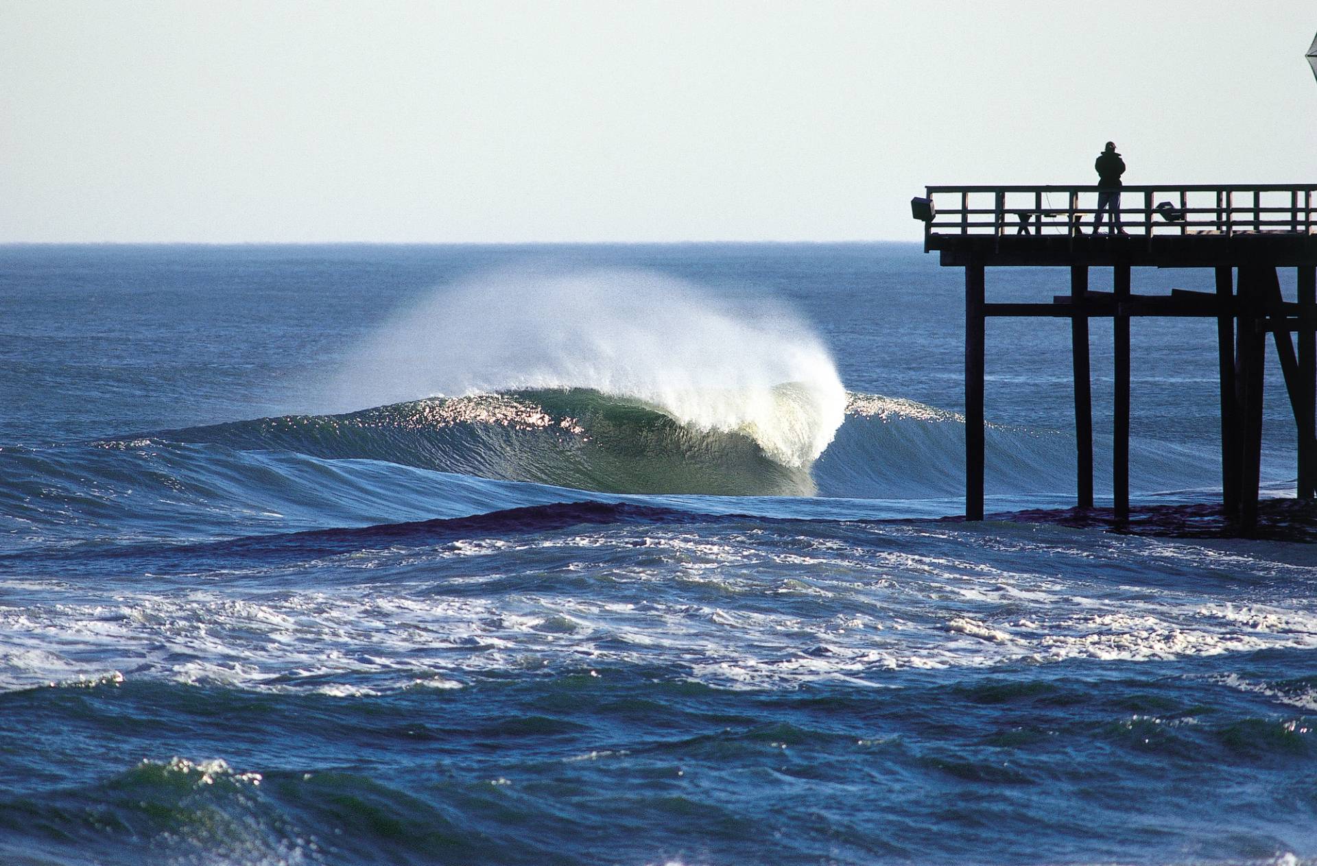
<path fill-rule="evenodd" d="M 1317 862 L 1313 546 L 940 520 L 961 326 L 913 245 L 0 247 L 0 862 Z M 988 337 L 1065 508 L 1068 325 Z M 1214 370 L 1135 320 L 1137 503 Z"/>

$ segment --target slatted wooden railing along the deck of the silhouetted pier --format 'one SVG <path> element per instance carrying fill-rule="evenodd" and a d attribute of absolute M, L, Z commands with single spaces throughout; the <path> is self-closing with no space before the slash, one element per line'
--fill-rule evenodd
<path fill-rule="evenodd" d="M 930 234 L 1089 234 L 1097 215 L 1094 186 L 926 187 L 935 215 Z M 1317 184 L 1126 186 L 1121 228 L 1131 234 L 1243 234 L 1317 229 Z M 917 218 L 918 215 L 917 215 Z M 1110 213 L 1104 216 L 1108 229 Z"/>

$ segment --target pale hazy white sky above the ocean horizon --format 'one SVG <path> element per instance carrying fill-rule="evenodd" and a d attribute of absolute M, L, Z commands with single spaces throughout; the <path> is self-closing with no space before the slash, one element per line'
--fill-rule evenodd
<path fill-rule="evenodd" d="M 1317 182 L 1312 0 L 0 0 L 0 241 L 921 237 L 923 184 Z"/>

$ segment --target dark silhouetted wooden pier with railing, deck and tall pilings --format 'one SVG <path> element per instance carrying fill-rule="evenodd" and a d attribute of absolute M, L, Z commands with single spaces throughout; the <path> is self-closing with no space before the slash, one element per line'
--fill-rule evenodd
<path fill-rule="evenodd" d="M 984 322 L 990 316 L 1071 320 L 1079 505 L 1093 507 L 1090 318 L 1114 320 L 1113 466 L 1115 517 L 1130 509 L 1130 318 L 1201 316 L 1217 321 L 1221 378 L 1221 486 L 1243 529 L 1256 524 L 1266 336 L 1274 337 L 1299 429 L 1299 496 L 1317 487 L 1317 220 L 1312 186 L 1122 188 L 1127 234 L 1092 236 L 1097 187 L 927 187 L 925 251 L 965 268 L 965 516 L 984 515 Z M 1134 207 L 1130 207 L 1134 205 Z M 1068 267 L 1069 292 L 1052 303 L 990 303 L 985 271 Z M 1112 292 L 1088 290 L 1089 268 L 1110 267 Z M 1213 268 L 1210 291 L 1131 290 L 1137 267 Z M 1277 268 L 1297 270 L 1297 300 L 1281 296 Z M 1297 334 L 1297 349 L 1291 334 Z"/>

